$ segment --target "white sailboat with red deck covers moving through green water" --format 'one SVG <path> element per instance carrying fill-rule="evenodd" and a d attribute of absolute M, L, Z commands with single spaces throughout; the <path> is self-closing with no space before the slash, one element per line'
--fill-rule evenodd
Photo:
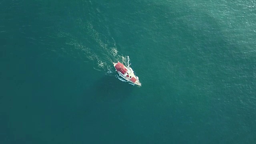
<path fill-rule="evenodd" d="M 114 67 L 116 68 L 116 72 L 125 80 L 127 80 L 128 82 L 131 82 L 133 84 L 136 84 L 138 86 L 141 86 L 141 83 L 139 81 L 138 76 L 135 75 L 134 70 L 132 70 L 132 68 L 130 67 L 131 63 L 130 62 L 130 58 L 129 56 L 127 56 L 127 65 L 125 66 L 124 64 L 118 62 L 118 63 L 114 63 Z"/>

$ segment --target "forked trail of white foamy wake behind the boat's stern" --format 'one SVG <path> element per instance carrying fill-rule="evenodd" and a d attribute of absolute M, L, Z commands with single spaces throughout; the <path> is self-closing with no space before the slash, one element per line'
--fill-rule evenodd
<path fill-rule="evenodd" d="M 57 35 L 60 38 L 66 38 L 67 45 L 73 46 L 77 50 L 81 50 L 82 54 L 84 54 L 88 60 L 95 61 L 98 67 L 94 67 L 95 70 L 107 70 L 106 75 L 112 75 L 114 73 L 114 69 L 112 68 L 113 58 L 116 59 L 115 61 L 126 62 L 126 58 L 124 56 L 118 55 L 114 38 L 111 37 L 112 42 L 106 40 L 105 36 L 101 35 L 94 29 L 91 22 L 83 23 L 82 19 L 77 19 L 76 23 L 78 24 L 79 28 L 88 33 L 87 36 L 90 36 L 90 38 L 96 41 L 98 44 L 98 49 L 85 46 L 83 42 L 78 40 L 78 38 L 74 37 L 70 33 L 60 31 Z M 68 54 L 67 50 L 62 50 Z M 69 51 L 72 51 L 72 49 Z"/>

